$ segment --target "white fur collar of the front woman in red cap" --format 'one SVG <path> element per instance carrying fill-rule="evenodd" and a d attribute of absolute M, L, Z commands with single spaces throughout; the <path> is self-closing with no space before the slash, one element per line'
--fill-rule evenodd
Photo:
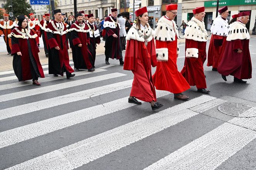
<path fill-rule="evenodd" d="M 134 24 L 130 30 L 128 31 L 127 35 L 126 35 L 126 40 L 137 40 L 137 41 L 141 41 L 141 42 L 145 42 L 143 35 L 147 35 L 148 36 L 148 42 L 153 40 L 153 37 L 155 36 L 155 31 L 152 30 L 152 28 L 150 28 L 150 26 L 147 25 L 147 28 L 145 28 L 144 30 L 139 30 L 136 26 L 136 24 Z"/>

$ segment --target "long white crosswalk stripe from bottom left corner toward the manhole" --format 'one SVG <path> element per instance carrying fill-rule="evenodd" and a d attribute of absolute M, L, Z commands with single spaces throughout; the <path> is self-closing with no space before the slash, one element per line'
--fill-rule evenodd
<path fill-rule="evenodd" d="M 52 169 L 52 167 L 54 169 L 71 170 L 81 167 L 86 163 L 115 152 L 118 149 L 199 114 L 187 108 L 213 99 L 216 98 L 206 95 L 197 97 L 156 114 L 143 117 L 67 147 L 14 165 L 8 168 L 8 170 Z"/>

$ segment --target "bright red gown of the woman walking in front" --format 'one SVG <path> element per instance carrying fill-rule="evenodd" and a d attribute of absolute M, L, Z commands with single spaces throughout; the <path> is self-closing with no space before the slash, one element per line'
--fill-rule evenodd
<path fill-rule="evenodd" d="M 145 102 L 157 101 L 151 73 L 151 66 L 157 65 L 155 42 L 151 40 L 146 47 L 144 42 L 129 38 L 132 32 L 136 33 L 134 28 L 129 32 L 123 69 L 131 70 L 134 74 L 130 96 Z"/>

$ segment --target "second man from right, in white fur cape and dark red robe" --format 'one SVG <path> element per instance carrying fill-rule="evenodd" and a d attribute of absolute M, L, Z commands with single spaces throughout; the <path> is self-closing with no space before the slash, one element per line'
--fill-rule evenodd
<path fill-rule="evenodd" d="M 227 6 L 221 8 L 218 12 L 219 16 L 214 19 L 211 26 L 212 37 L 207 56 L 207 66 L 212 66 L 212 71 L 217 71 L 217 67 L 221 62 L 229 30 L 229 25 L 227 23 L 229 10 L 227 9 Z"/>

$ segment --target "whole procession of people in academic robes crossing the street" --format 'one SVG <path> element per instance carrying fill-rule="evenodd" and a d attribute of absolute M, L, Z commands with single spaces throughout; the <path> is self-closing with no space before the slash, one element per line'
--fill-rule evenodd
<path fill-rule="evenodd" d="M 5 20 L 0 22 L 0 35 L 4 36 L 8 53 L 13 55 L 13 69 L 19 81 L 32 79 L 33 84 L 40 85 L 38 78 L 44 78 L 39 61 L 39 36 L 44 41 L 45 56 L 49 60 L 49 74 L 63 76 L 67 79 L 75 76 L 69 65 L 69 47 L 72 49 L 74 69 L 95 70 L 96 47 L 100 37 L 105 41 L 105 63 L 109 58 L 118 59 L 123 69 L 134 74 L 128 102 L 141 104 L 139 100 L 149 102 L 152 110 L 163 106 L 157 102 L 155 89 L 169 91 L 174 99 L 188 100 L 183 94 L 196 86 L 197 91 L 208 94 L 204 62 L 206 61 L 205 8 L 193 10 L 194 17 L 186 24 L 182 22 L 185 38 L 185 62 L 181 72 L 177 68 L 179 56 L 179 33 L 174 18 L 177 16 L 177 4 L 166 5 L 166 14 L 158 20 L 155 30 L 148 24 L 147 7 L 135 11 L 136 22 L 131 23 L 118 14 L 116 8 L 111 15 L 101 21 L 93 14 L 84 15 L 79 12 L 73 16 L 54 10 L 54 20 L 50 14 L 39 22 L 30 13 L 17 17 L 16 22 Z M 250 12 L 241 12 L 232 16 L 227 23 L 228 8 L 219 10 L 219 16 L 211 27 L 211 41 L 208 51 L 207 66 L 218 71 L 222 78 L 234 76 L 234 82 L 246 83 L 252 73 L 249 53 L 250 35 L 245 26 Z M 8 36 L 8 38 L 7 38 Z M 69 45 L 68 45 L 69 42 Z M 122 51 L 125 51 L 123 59 Z M 152 75 L 151 68 L 157 67 Z"/>

